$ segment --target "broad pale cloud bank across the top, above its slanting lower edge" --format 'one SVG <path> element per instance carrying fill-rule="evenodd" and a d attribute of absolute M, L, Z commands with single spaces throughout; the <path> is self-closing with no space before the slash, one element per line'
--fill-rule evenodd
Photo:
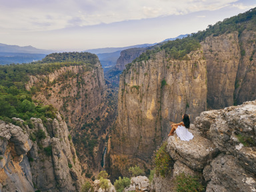
<path fill-rule="evenodd" d="M 0 5 L 1 27 L 47 31 L 195 11 L 213 11 L 237 0 L 9 0 Z M 233 5 L 242 7 L 243 5 Z"/>

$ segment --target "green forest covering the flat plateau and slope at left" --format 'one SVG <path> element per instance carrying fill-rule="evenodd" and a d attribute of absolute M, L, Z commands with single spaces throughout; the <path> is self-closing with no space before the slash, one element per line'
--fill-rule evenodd
<path fill-rule="evenodd" d="M 41 102 L 32 100 L 32 94 L 39 89 L 33 87 L 31 91 L 25 90 L 29 76 L 49 74 L 63 66 L 83 65 L 93 68 L 97 61 L 97 56 L 88 52 L 64 52 L 49 54 L 39 62 L 0 66 L 0 118 L 7 122 L 11 122 L 13 117 L 23 120 L 31 117 L 42 120 L 55 118 L 53 106 L 43 106 Z"/>

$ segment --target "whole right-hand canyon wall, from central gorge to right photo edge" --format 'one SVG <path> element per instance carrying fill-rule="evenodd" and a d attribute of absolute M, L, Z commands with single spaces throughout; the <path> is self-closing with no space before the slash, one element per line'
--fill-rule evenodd
<path fill-rule="evenodd" d="M 187 60 L 173 60 L 162 51 L 128 64 L 120 77 L 109 163 L 121 164 L 121 170 L 138 162 L 147 167 L 170 122 L 180 122 L 182 114 L 193 122 L 205 110 L 255 100 L 255 37 L 250 30 L 211 35 Z"/>

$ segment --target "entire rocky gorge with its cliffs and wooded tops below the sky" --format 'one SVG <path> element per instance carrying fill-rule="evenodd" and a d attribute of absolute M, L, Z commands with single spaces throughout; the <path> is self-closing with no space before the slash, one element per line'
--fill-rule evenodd
<path fill-rule="evenodd" d="M 123 50 L 113 82 L 88 52 L 0 66 L 0 191 L 84 191 L 99 171 L 113 183 L 134 165 L 149 175 L 163 142 L 169 175 L 155 173 L 146 191 L 172 191 L 165 183 L 181 172 L 205 191 L 256 191 L 255 23 L 251 9 L 183 39 Z M 167 138 L 185 113 L 195 138 Z"/>

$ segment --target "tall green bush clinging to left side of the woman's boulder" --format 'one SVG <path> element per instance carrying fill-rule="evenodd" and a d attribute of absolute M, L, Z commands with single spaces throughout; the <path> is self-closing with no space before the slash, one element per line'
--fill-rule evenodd
<path fill-rule="evenodd" d="M 155 171 L 157 175 L 165 177 L 172 167 L 172 159 L 170 154 L 167 152 L 167 142 L 164 142 L 161 147 L 153 155 L 153 163 L 155 164 Z"/>

